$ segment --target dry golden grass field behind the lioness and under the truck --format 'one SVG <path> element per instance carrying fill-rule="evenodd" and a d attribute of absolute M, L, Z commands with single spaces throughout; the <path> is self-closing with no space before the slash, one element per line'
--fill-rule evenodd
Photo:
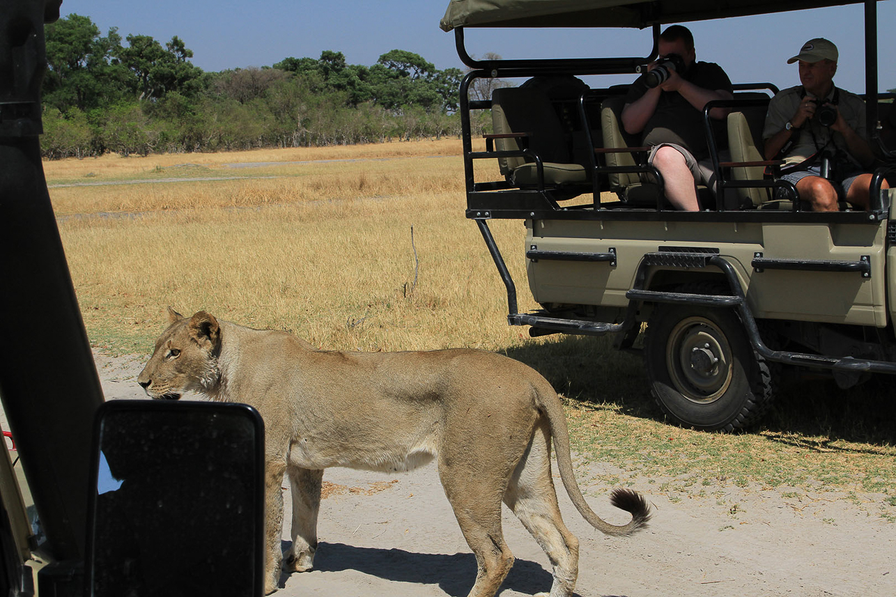
<path fill-rule="evenodd" d="M 640 359 L 607 339 L 538 340 L 505 323 L 504 286 L 463 215 L 457 140 L 44 164 L 91 342 L 148 354 L 168 305 L 340 350 L 502 351 L 568 398 L 576 447 L 669 495 L 840 491 L 896 520 L 892 379 L 786 385 L 751 433 L 666 425 Z M 494 165 L 483 165 L 493 168 Z M 521 221 L 490 226 L 534 308 Z"/>

